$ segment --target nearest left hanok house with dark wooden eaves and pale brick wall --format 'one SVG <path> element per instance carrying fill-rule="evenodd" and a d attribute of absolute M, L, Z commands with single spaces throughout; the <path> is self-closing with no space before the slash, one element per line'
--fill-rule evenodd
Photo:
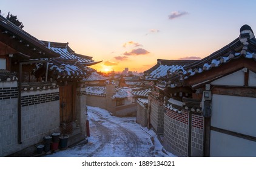
<path fill-rule="evenodd" d="M 0 31 L 0 156 L 7 156 L 58 130 L 58 86 L 36 83 L 32 70 L 59 54 L 3 16 Z"/>

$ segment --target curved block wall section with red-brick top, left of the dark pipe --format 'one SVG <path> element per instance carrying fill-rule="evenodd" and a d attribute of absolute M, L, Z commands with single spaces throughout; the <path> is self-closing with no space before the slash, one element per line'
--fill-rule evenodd
<path fill-rule="evenodd" d="M 187 156 L 189 126 L 181 120 L 184 116 L 189 118 L 188 113 L 181 115 L 169 109 L 164 114 L 164 147 L 177 156 Z"/>

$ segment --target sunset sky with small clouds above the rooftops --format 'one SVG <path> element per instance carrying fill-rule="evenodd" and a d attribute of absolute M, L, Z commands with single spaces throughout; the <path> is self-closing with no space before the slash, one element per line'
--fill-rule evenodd
<path fill-rule="evenodd" d="M 69 42 L 106 69 L 146 71 L 157 59 L 209 56 L 239 36 L 256 32 L 256 1 L 231 0 L 1 0 L 1 14 L 18 16 L 39 40 Z"/>

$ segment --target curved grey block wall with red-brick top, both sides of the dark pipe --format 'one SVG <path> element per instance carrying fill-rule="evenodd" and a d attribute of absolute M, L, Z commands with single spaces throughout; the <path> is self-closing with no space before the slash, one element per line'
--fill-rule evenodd
<path fill-rule="evenodd" d="M 189 151 L 190 156 L 203 156 L 203 116 L 192 114 L 192 119 L 189 120 L 189 113 L 186 110 L 177 113 L 166 108 L 164 148 L 177 156 L 189 156 Z M 190 137 L 189 121 L 191 121 Z"/>

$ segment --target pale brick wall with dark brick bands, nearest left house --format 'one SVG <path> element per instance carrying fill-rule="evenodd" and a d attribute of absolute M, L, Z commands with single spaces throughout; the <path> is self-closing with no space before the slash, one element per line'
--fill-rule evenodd
<path fill-rule="evenodd" d="M 59 100 L 58 97 L 51 100 L 53 95 L 58 96 L 58 89 L 22 92 L 21 97 L 30 98 L 31 103 L 21 107 L 22 144 L 19 144 L 17 83 L 0 83 L 0 87 L 4 87 L 0 88 L 0 92 L 4 93 L 0 95 L 0 156 L 37 144 L 45 135 L 59 129 Z M 42 103 L 42 97 L 49 101 Z"/>

